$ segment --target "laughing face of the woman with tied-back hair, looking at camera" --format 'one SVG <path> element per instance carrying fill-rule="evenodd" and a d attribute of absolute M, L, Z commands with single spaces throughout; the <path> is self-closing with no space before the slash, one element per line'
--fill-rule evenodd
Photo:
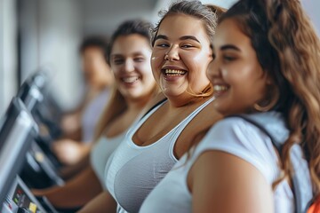
<path fill-rule="evenodd" d="M 184 14 L 164 18 L 155 38 L 151 67 L 167 98 L 204 91 L 211 60 L 211 43 L 202 20 Z"/>

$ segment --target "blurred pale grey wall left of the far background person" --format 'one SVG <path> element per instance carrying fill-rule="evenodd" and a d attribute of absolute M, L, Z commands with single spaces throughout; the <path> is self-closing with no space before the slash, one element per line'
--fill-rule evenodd
<path fill-rule="evenodd" d="M 22 81 L 39 67 L 52 71 L 52 92 L 63 108 L 81 98 L 78 45 L 83 36 L 77 0 L 21 0 Z"/>

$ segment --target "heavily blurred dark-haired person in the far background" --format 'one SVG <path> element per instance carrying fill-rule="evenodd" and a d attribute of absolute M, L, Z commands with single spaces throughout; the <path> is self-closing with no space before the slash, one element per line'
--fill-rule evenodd
<path fill-rule="evenodd" d="M 107 47 L 108 40 L 103 36 L 88 36 L 80 46 L 86 87 L 84 99 L 76 110 L 62 117 L 63 136 L 52 144 L 62 164 L 75 164 L 89 153 L 96 124 L 114 83 L 105 59 Z"/>

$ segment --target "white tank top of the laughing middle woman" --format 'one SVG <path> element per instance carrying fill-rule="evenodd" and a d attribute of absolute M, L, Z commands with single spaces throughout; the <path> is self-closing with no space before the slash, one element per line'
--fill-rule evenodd
<path fill-rule="evenodd" d="M 163 104 L 151 110 L 132 126 L 132 130 L 128 131 L 124 141 L 110 157 L 105 170 L 106 185 L 118 203 L 119 212 L 139 211 L 148 193 L 178 161 L 173 155 L 173 146 L 181 131 L 212 100 L 213 98 L 206 100 L 164 137 L 148 146 L 134 144 L 132 135 Z"/>

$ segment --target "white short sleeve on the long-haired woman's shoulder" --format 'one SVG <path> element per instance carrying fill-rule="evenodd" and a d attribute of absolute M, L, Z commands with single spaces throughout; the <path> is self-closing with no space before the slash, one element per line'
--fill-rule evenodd
<path fill-rule="evenodd" d="M 277 155 L 270 138 L 242 118 L 217 122 L 196 147 L 198 156 L 208 150 L 234 154 L 256 167 L 271 184 L 278 177 Z"/>

